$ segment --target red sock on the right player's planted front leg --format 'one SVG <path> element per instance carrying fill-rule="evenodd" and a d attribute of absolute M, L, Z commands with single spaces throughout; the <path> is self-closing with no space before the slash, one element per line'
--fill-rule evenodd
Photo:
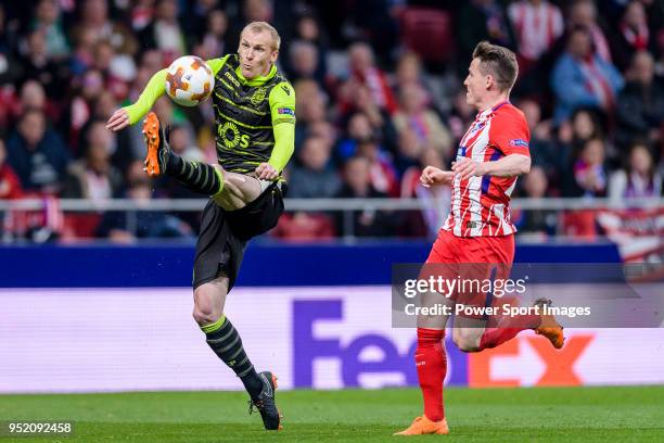
<path fill-rule="evenodd" d="M 445 418 L 443 409 L 443 381 L 447 374 L 445 330 L 418 328 L 416 367 L 424 397 L 424 415 L 432 421 Z"/>

